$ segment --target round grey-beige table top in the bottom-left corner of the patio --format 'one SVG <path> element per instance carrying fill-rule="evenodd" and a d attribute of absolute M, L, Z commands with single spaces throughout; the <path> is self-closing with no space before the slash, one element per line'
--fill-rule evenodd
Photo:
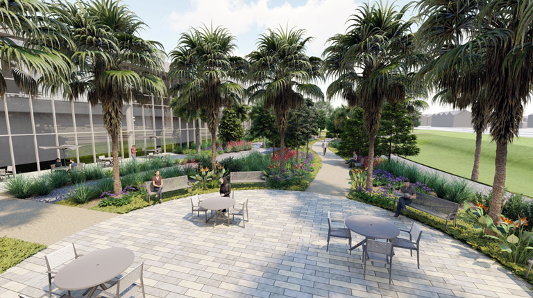
<path fill-rule="evenodd" d="M 71 261 L 59 270 L 54 278 L 56 287 L 62 290 L 82 290 L 92 288 L 92 297 L 98 286 L 117 277 L 133 263 L 135 255 L 130 249 L 111 247 L 96 250 Z"/>

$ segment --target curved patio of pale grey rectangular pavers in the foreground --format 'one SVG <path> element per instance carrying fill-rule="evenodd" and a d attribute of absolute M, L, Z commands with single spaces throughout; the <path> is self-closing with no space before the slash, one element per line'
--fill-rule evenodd
<path fill-rule="evenodd" d="M 350 256 L 347 241 L 334 239 L 330 252 L 325 251 L 328 211 L 344 218 L 379 216 L 400 229 L 410 227 L 411 220 L 316 193 L 251 190 L 237 191 L 235 198 L 250 200 L 246 228 L 237 218 L 230 227 L 226 222 L 216 229 L 212 222 L 205 224 L 203 216 L 195 216 L 192 223 L 190 200 L 165 202 L 50 245 L 0 275 L 0 297 L 17 297 L 16 292 L 46 295 L 44 255 L 69 242 L 81 254 L 108 247 L 132 249 L 132 268 L 144 262 L 146 297 L 533 297 L 529 283 L 468 245 L 421 224 L 421 269 L 416 268 L 416 256 L 397 249 L 392 285 L 387 270 L 379 267 L 370 267 L 365 280 L 360 249 Z M 362 240 L 357 234 L 353 237 L 354 243 Z M 81 297 L 82 292 L 72 296 Z M 54 290 L 55 297 L 63 293 Z M 141 296 L 138 292 L 136 297 Z"/>

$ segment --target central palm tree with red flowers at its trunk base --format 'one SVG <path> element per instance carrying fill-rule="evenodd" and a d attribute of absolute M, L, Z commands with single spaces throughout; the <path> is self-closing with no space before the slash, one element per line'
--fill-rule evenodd
<path fill-rule="evenodd" d="M 250 61 L 248 87 L 250 100 L 262 100 L 264 108 L 273 107 L 280 132 L 280 166 L 285 169 L 285 132 L 289 110 L 303 105 L 304 96 L 323 99 L 321 89 L 312 84 L 322 80 L 320 59 L 307 57 L 305 47 L 312 37 L 305 30 L 267 29 L 260 35 L 257 49 L 246 57 Z"/>

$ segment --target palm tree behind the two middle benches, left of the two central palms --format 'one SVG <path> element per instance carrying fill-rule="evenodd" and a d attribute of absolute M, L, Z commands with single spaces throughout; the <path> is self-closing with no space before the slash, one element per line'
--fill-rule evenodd
<path fill-rule="evenodd" d="M 176 49 L 171 51 L 169 78 L 180 82 L 171 87 L 178 103 L 198 110 L 205 107 L 211 132 L 212 168 L 216 166 L 217 128 L 223 106 L 231 107 L 242 97 L 244 89 L 237 82 L 246 74 L 246 60 L 231 56 L 235 37 L 228 29 L 191 28 L 182 33 Z"/>

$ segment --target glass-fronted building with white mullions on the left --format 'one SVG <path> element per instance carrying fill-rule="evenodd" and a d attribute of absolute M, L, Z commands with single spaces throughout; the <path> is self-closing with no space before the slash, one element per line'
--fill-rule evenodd
<path fill-rule="evenodd" d="M 28 96 L 19 91 L 8 71 L 5 72 L 8 93 L 0 98 L 0 168 L 14 166 L 16 173 L 49 169 L 54 159 L 63 158 L 61 150 L 43 150 L 40 146 L 63 144 L 82 146 L 65 150 L 65 157 L 92 163 L 111 155 L 111 139 L 105 130 L 102 107 L 92 107 L 87 100 L 69 101 L 40 94 Z M 125 104 L 119 155 L 130 157 L 133 144 L 137 156 L 142 148 L 174 151 L 194 139 L 195 123 L 175 117 L 169 98 L 146 98 L 146 104 Z M 200 121 L 201 123 L 201 121 Z M 201 123 L 201 139 L 210 139 L 205 123 Z M 160 139 L 144 139 L 156 135 Z"/>

